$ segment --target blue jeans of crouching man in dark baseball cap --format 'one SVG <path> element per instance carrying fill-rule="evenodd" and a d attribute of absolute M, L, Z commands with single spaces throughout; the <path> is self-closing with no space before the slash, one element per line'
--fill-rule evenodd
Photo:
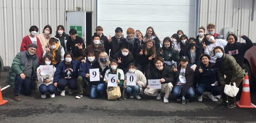
<path fill-rule="evenodd" d="M 181 98 L 181 92 L 183 89 L 183 84 L 181 84 L 180 86 L 175 86 L 172 90 L 172 94 L 176 97 L 176 98 Z M 188 91 L 186 92 L 185 98 L 186 99 L 191 99 L 195 97 L 195 91 L 192 87 L 189 87 Z"/>

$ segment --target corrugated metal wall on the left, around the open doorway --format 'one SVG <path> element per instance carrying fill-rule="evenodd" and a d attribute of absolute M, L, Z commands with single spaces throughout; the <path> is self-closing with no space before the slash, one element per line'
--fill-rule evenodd
<path fill-rule="evenodd" d="M 58 25 L 65 26 L 65 11 L 93 11 L 92 31 L 96 27 L 96 0 L 1 0 L 0 2 L 0 55 L 4 66 L 11 66 L 20 51 L 22 38 L 29 34 L 31 25 L 42 33 L 45 25 L 52 26 L 52 35 Z"/>

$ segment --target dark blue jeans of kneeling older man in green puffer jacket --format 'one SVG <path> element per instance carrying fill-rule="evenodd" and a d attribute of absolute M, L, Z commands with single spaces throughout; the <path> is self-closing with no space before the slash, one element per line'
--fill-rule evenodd
<path fill-rule="evenodd" d="M 23 92 L 25 95 L 31 94 L 31 78 L 22 79 L 20 75 L 16 75 L 14 95 L 20 95 L 20 89 L 23 87 Z"/>

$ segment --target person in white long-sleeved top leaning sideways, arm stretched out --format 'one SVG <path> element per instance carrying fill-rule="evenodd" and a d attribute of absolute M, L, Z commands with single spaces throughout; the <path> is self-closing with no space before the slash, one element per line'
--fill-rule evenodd
<path fill-rule="evenodd" d="M 213 36 L 210 34 L 206 34 L 203 39 L 203 48 L 204 53 L 208 54 L 211 57 L 210 62 L 215 63 L 215 60 L 217 59 L 216 56 L 214 56 L 213 49 L 217 46 L 220 46 L 222 49 L 225 48 L 227 45 L 227 41 L 224 39 L 214 39 Z"/>

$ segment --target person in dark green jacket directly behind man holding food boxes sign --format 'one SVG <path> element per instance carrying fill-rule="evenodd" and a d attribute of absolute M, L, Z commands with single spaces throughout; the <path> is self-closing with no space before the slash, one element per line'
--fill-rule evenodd
<path fill-rule="evenodd" d="M 179 52 L 172 48 L 172 39 L 169 37 L 165 37 L 163 39 L 163 47 L 157 51 L 157 56 L 161 56 L 163 58 L 163 62 L 170 65 L 176 66 L 177 61 L 180 59 Z"/>

